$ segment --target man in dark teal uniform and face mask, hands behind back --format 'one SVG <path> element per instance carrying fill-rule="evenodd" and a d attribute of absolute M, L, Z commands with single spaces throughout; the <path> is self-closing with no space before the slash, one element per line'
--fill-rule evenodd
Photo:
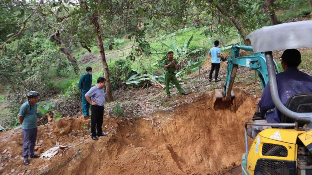
<path fill-rule="evenodd" d="M 89 109 L 90 103 L 85 99 L 85 94 L 91 89 L 92 84 L 92 67 L 87 67 L 85 69 L 87 73 L 80 77 L 79 90 L 82 95 L 82 114 L 85 117 L 90 117 Z"/>

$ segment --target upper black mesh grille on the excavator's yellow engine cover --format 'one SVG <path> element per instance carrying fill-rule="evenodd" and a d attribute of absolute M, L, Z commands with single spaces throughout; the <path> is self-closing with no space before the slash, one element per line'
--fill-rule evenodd
<path fill-rule="evenodd" d="M 275 145 L 264 143 L 262 145 L 262 155 L 265 156 L 276 156 L 276 157 L 287 157 L 287 148 L 283 145 Z"/>

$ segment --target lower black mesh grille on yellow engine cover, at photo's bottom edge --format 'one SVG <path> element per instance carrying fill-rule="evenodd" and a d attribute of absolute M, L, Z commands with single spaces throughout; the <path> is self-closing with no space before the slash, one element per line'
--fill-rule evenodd
<path fill-rule="evenodd" d="M 260 162 L 261 175 L 289 175 L 288 167 L 282 162 Z"/>

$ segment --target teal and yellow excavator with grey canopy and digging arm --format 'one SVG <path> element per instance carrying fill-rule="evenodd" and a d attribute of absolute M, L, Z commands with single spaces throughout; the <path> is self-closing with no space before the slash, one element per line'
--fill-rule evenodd
<path fill-rule="evenodd" d="M 241 174 L 312 175 L 312 93 L 293 95 L 286 106 L 282 104 L 276 81 L 279 70 L 272 55 L 272 51 L 312 47 L 312 21 L 262 27 L 247 35 L 246 39 L 252 46 L 232 46 L 226 82 L 222 90 L 215 90 L 214 106 L 233 103 L 236 71 L 238 66 L 243 66 L 257 72 L 262 89 L 270 81 L 273 103 L 283 115 L 282 123 L 257 122 L 257 107 L 255 120 L 244 124 L 246 153 L 241 158 Z M 241 57 L 240 50 L 253 53 Z M 268 129 L 257 130 L 259 127 Z M 248 128 L 253 135 L 247 134 Z M 248 136 L 252 142 L 248 142 L 251 140 Z"/>

